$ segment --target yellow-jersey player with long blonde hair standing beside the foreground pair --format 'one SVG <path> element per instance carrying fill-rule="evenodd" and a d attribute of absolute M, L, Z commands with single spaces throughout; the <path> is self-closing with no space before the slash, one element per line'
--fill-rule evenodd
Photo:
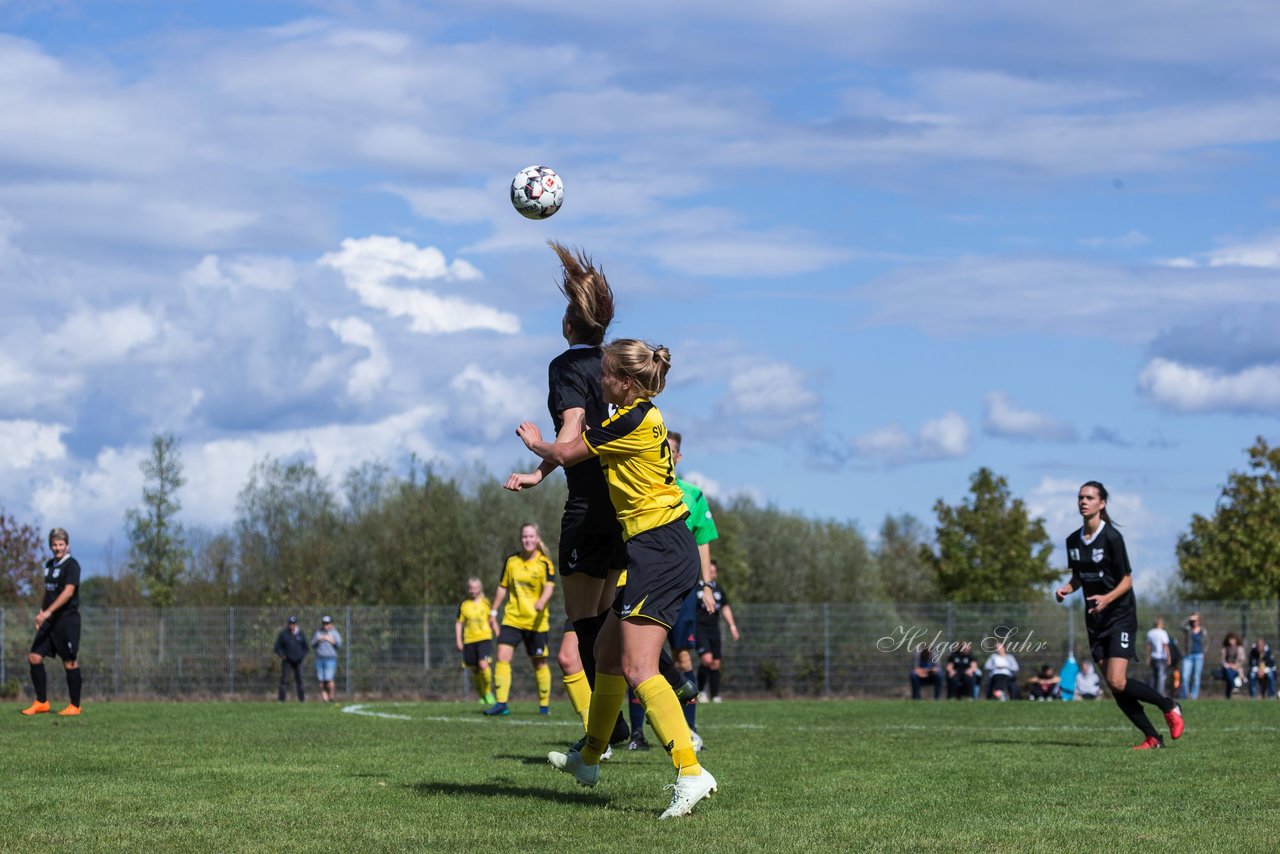
<path fill-rule="evenodd" d="M 498 663 L 493 668 L 493 693 L 495 703 L 484 711 L 485 714 L 509 714 L 507 700 L 511 695 L 511 658 L 516 647 L 525 644 L 529 663 L 534 666 L 534 679 L 538 681 L 538 712 L 550 714 L 552 672 L 547 667 L 550 615 L 547 604 L 556 590 L 556 567 L 547 556 L 538 525 L 527 524 L 520 529 L 520 551 L 507 558 L 502 571 L 502 581 L 493 597 L 489 621 L 498 635 Z M 508 600 L 509 595 L 509 600 Z M 506 602 L 507 607 L 503 608 Z M 502 613 L 502 627 L 498 627 L 498 615 Z"/>

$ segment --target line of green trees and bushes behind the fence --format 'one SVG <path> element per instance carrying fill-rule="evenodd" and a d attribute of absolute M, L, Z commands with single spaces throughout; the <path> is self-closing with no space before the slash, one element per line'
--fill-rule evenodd
<path fill-rule="evenodd" d="M 513 494 L 480 469 L 412 460 L 337 483 L 303 461 L 264 458 L 219 530 L 184 526 L 179 442 L 155 435 L 141 463 L 142 501 L 124 515 L 127 560 L 86 577 L 82 599 L 104 607 L 444 604 L 466 580 L 492 590 L 518 530 L 539 526 L 552 556 L 566 489 L 561 476 Z M 712 501 L 713 554 L 739 602 L 1030 602 L 1064 576 L 1043 520 L 1009 483 L 978 469 L 933 524 L 887 516 L 874 544 L 854 520 L 812 519 L 750 498 Z M 40 531 L 0 510 L 0 602 L 38 599 Z M 1248 449 L 1212 516 L 1193 516 L 1178 543 L 1180 589 L 1194 599 L 1280 595 L 1280 448 Z"/>

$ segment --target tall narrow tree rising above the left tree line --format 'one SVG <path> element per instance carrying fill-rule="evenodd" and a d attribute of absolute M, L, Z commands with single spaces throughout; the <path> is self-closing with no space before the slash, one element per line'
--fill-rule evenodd
<path fill-rule="evenodd" d="M 142 507 L 125 513 L 129 568 L 142 581 L 151 604 L 163 608 L 177 602 L 178 580 L 187 560 L 187 544 L 177 521 L 182 510 L 178 490 L 187 483 L 178 439 L 169 433 L 151 437 L 151 455 L 140 465 L 146 478 Z"/>

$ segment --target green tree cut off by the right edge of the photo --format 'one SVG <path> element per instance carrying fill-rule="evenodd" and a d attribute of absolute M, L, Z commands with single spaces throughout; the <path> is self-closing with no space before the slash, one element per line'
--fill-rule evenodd
<path fill-rule="evenodd" d="M 1178 538 L 1178 567 L 1193 598 L 1280 595 L 1280 447 L 1258 437 L 1245 471 L 1233 471 L 1212 516 L 1192 516 Z"/>

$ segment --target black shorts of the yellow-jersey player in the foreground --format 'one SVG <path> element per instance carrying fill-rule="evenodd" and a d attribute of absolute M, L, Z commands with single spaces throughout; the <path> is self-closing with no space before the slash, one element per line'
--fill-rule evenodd
<path fill-rule="evenodd" d="M 627 586 L 613 599 L 613 613 L 671 629 L 700 572 L 698 544 L 684 519 L 641 531 L 627 540 Z"/>

